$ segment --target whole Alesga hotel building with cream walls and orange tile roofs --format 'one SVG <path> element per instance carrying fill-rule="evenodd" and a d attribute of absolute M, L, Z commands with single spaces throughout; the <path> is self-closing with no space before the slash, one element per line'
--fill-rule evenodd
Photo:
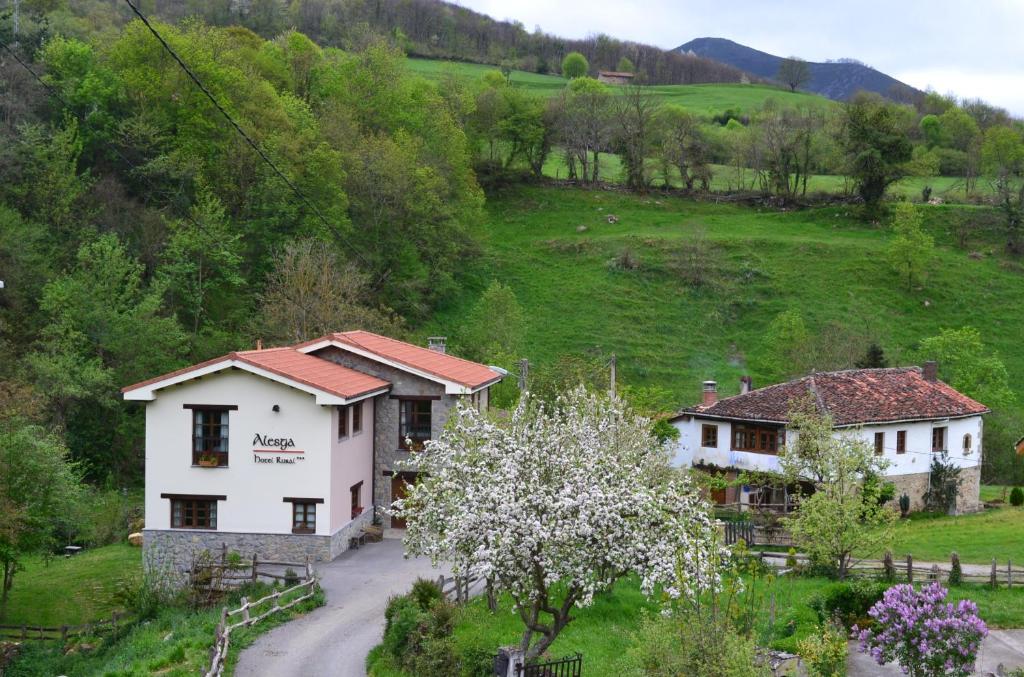
<path fill-rule="evenodd" d="M 415 472 L 398 461 L 494 370 L 370 332 L 230 352 L 123 388 L 145 404 L 145 560 L 331 559 Z"/>

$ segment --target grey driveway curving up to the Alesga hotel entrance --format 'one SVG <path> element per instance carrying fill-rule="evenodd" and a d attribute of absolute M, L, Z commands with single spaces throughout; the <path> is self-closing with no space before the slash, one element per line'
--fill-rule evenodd
<path fill-rule="evenodd" d="M 426 559 L 404 559 L 397 539 L 349 550 L 316 568 L 327 604 L 261 635 L 242 651 L 236 675 L 364 677 L 367 653 L 384 631 L 388 597 L 418 577 L 449 574 Z"/>

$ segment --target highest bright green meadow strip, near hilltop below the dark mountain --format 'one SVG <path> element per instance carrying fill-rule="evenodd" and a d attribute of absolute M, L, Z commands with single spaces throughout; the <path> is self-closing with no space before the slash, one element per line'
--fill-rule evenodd
<path fill-rule="evenodd" d="M 428 78 L 440 78 L 451 74 L 466 79 L 479 79 L 484 73 L 496 71 L 494 66 L 463 64 L 459 61 L 436 61 L 425 58 L 407 59 L 409 69 Z M 524 71 L 513 71 L 512 83 L 544 95 L 554 95 L 565 87 L 565 79 L 554 75 L 539 75 Z M 707 85 L 659 85 L 648 88 L 666 103 L 677 103 L 695 113 L 714 115 L 726 109 L 753 113 L 766 99 L 774 98 L 783 105 L 821 105 L 836 103 L 823 96 L 805 92 L 791 92 L 768 85 L 707 84 Z M 621 89 L 616 89 L 621 91 Z"/>

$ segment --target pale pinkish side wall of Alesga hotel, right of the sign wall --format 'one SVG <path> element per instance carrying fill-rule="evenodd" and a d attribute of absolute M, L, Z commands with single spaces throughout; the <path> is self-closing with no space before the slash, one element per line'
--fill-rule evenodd
<path fill-rule="evenodd" d="M 331 533 L 352 520 L 352 496 L 349 490 L 361 481 L 360 505 L 373 509 L 374 477 L 374 399 L 352 405 L 362 408 L 362 429 L 352 432 L 352 413 L 348 412 L 348 436 L 338 439 L 338 408 L 331 415 Z M 328 514 L 325 512 L 325 515 Z M 319 524 L 317 523 L 317 526 Z"/>

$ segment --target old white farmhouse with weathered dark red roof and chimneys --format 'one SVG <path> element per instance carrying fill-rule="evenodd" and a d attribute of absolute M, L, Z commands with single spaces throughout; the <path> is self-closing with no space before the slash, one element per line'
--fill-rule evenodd
<path fill-rule="evenodd" d="M 932 458 L 946 451 L 961 468 L 957 510 L 979 507 L 984 405 L 937 378 L 935 363 L 924 367 L 857 369 L 816 373 L 763 388 L 744 377 L 740 394 L 718 398 L 714 381 L 703 384 L 701 404 L 680 411 L 672 423 L 680 432 L 675 463 L 736 477 L 743 470 L 778 470 L 788 412 L 811 395 L 831 416 L 837 434 L 860 436 L 889 462 L 885 470 L 906 494 L 912 510 L 923 507 Z M 780 490 L 729 488 L 715 493 L 719 503 L 768 503 L 785 498 Z"/>

